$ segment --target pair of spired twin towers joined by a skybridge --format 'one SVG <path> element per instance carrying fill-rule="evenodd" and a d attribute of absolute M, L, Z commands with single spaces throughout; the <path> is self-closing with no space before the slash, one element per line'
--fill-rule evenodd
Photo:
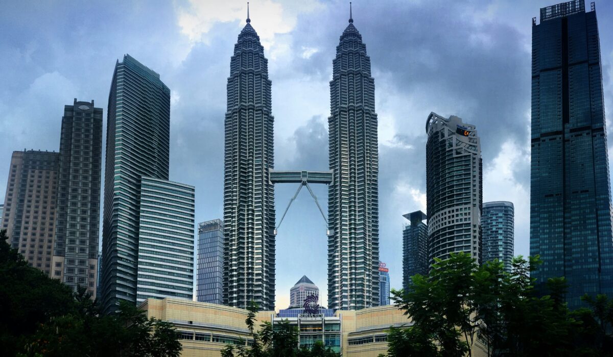
<path fill-rule="evenodd" d="M 275 179 L 268 60 L 249 17 L 227 82 L 224 158 L 224 304 L 275 308 Z M 379 154 L 375 81 L 349 17 L 330 81 L 328 307 L 379 305 Z M 308 172 L 295 171 L 308 185 Z M 277 177 L 291 176 L 290 171 Z M 302 177 L 300 177 L 302 174 Z M 299 182 L 283 181 L 276 182 Z M 307 186 L 308 187 L 308 186 Z"/>

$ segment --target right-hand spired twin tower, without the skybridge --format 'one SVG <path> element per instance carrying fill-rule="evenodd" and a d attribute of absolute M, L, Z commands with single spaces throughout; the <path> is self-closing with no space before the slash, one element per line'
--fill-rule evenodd
<path fill-rule="evenodd" d="M 375 80 L 351 16 L 332 64 L 328 304 L 358 310 L 379 305 L 379 152 Z"/>

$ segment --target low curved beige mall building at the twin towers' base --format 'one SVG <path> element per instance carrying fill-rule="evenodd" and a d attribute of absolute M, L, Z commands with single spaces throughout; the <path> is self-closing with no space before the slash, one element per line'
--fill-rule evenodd
<path fill-rule="evenodd" d="M 140 304 L 148 317 L 169 321 L 181 334 L 183 357 L 219 357 L 226 344 L 251 344 L 253 339 L 245 326 L 247 311 L 186 299 L 147 299 Z M 408 318 L 393 305 L 370 307 L 357 311 L 320 309 L 319 314 L 302 314 L 302 309 L 261 311 L 257 323 L 275 325 L 288 320 L 298 327 L 300 345 L 313 345 L 321 340 L 340 351 L 343 357 L 376 357 L 387 354 L 387 331 L 390 326 L 409 326 Z M 487 356 L 479 340 L 473 345 L 474 357 Z"/>

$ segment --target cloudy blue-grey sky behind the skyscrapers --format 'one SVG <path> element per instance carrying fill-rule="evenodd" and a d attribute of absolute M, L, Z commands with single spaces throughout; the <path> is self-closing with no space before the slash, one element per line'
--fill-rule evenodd
<path fill-rule="evenodd" d="M 425 211 L 431 111 L 476 124 L 484 201 L 515 204 L 516 254 L 528 254 L 531 18 L 555 2 L 353 1 L 375 78 L 381 260 L 392 287 L 402 285 L 402 214 Z M 613 4 L 597 1 L 596 10 L 611 118 Z M 251 1 L 269 60 L 278 170 L 327 170 L 329 81 L 348 15 L 348 1 Z M 129 53 L 172 91 L 170 179 L 196 186 L 197 222 L 221 218 L 226 80 L 245 17 L 245 2 L 234 0 L 0 0 L 0 178 L 13 150 L 58 150 L 63 106 L 75 97 L 106 113 L 115 61 Z M 295 189 L 276 188 L 278 216 Z M 315 192 L 325 209 L 326 187 Z M 325 229 L 301 192 L 277 236 L 277 308 L 304 274 L 326 304 Z"/>

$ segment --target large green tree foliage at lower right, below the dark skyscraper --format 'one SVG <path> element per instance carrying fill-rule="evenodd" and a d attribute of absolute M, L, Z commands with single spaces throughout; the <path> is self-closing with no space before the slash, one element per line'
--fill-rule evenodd
<path fill-rule="evenodd" d="M 413 326 L 389 331 L 387 356 L 470 356 L 477 338 L 489 356 L 613 356 L 613 300 L 584 296 L 590 308 L 570 312 L 563 277 L 536 296 L 530 272 L 539 263 L 520 256 L 506 272 L 500 261 L 477 266 L 463 253 L 436 260 L 408 291 L 393 291 Z"/>

